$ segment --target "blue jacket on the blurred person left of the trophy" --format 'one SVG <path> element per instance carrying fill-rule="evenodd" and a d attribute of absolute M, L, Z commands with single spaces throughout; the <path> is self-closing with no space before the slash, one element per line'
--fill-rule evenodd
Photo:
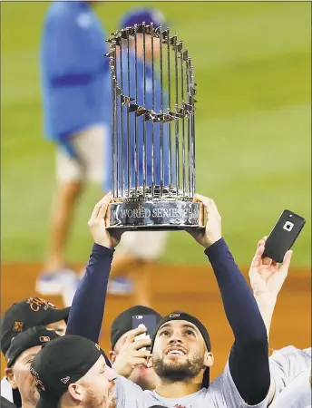
<path fill-rule="evenodd" d="M 44 133 L 69 151 L 73 132 L 110 121 L 109 67 L 102 57 L 107 49 L 102 24 L 88 2 L 50 5 L 40 55 Z"/>

